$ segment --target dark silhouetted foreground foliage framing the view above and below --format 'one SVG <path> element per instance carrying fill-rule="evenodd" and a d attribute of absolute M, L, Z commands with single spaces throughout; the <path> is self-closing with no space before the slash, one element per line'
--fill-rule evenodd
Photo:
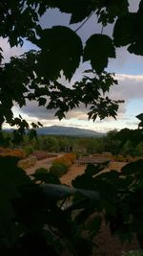
<path fill-rule="evenodd" d="M 70 23 L 81 22 L 79 27 L 75 31 L 64 26 L 43 30 L 40 26 L 40 17 L 49 8 L 71 13 Z M 84 45 L 77 32 L 92 15 L 96 15 L 97 22 L 101 23 L 101 33 L 91 35 Z M 28 100 L 37 101 L 49 110 L 55 109 L 55 115 L 59 119 L 80 104 L 90 107 L 88 115 L 93 121 L 97 116 L 100 119 L 107 116 L 115 118 L 120 101 L 112 101 L 106 96 L 106 92 L 117 81 L 114 80 L 113 74 L 107 73 L 105 69 L 109 58 L 115 58 L 116 47 L 127 46 L 130 53 L 143 55 L 142 20 L 142 0 L 137 12 L 129 12 L 128 0 L 2 0 L 0 36 L 8 38 L 11 47 L 22 45 L 24 39 L 27 39 L 38 47 L 38 50 L 25 53 L 21 57 L 12 57 L 10 62 L 6 63 L 3 59 L 3 50 L 0 49 L 0 128 L 4 122 L 12 127 L 16 125 L 18 129 L 13 133 L 13 143 L 19 141 L 25 133 L 25 128 L 30 126 L 21 116 L 14 118 L 11 108 L 14 104 L 22 107 Z M 112 36 L 104 35 L 104 27 L 108 24 L 112 24 Z M 83 79 L 72 84 L 72 88 L 58 81 L 61 71 L 65 78 L 71 81 L 80 62 L 85 61 L 90 61 L 91 69 L 86 70 Z M 40 123 L 37 125 L 40 126 Z M 31 136 L 36 135 L 34 128 L 37 128 L 37 125 L 31 124 Z M 2 133 L 0 137 L 3 140 Z M 79 237 L 79 231 L 90 214 L 102 209 L 106 210 L 106 217 L 113 227 L 123 232 L 132 228 L 132 231 L 137 233 L 140 244 L 143 244 L 142 175 L 136 171 L 142 169 L 142 162 L 126 167 L 123 170 L 125 179 L 120 176 L 118 181 L 119 175 L 106 174 L 99 176 L 98 184 L 94 182 L 93 175 L 98 174 L 102 167 L 91 167 L 84 177 L 78 177 L 72 182 L 76 189 L 59 184 L 50 186 L 47 184 L 50 181 L 56 184 L 60 182 L 50 175 L 40 178 L 35 175 L 33 181 L 16 167 L 14 159 L 2 158 L 0 166 L 0 207 L 3 209 L 0 216 L 1 252 L 6 247 L 8 252 L 12 247 L 13 254 L 18 250 L 17 254 L 20 255 L 19 250 L 23 251 L 30 237 L 31 241 L 35 241 L 35 235 L 38 234 L 36 238 L 40 236 L 40 240 L 45 238 L 46 233 L 50 244 L 57 243 L 60 234 L 65 244 L 72 248 L 74 255 L 90 255 L 92 240 L 87 242 Z M 137 180 L 135 184 L 134 179 Z M 77 197 L 74 198 L 73 204 L 63 210 L 64 199 L 68 196 L 74 197 L 75 194 Z M 79 198 L 81 200 L 78 200 Z M 61 199 L 63 204 L 60 204 Z M 126 213 L 122 211 L 122 206 L 125 205 L 128 205 Z M 72 210 L 77 209 L 81 211 L 76 218 L 72 215 Z M 137 212 L 137 209 L 140 211 Z M 75 217 L 75 220 L 72 220 L 72 217 Z M 93 221 L 95 229 L 98 230 L 101 219 Z M 95 234 L 95 229 L 91 230 L 91 237 Z M 71 237 L 72 241 L 69 239 Z M 45 242 L 45 246 L 49 245 L 49 250 L 50 244 Z M 6 254 L 5 252 L 1 255 Z M 56 255 L 53 250 L 51 253 Z"/>

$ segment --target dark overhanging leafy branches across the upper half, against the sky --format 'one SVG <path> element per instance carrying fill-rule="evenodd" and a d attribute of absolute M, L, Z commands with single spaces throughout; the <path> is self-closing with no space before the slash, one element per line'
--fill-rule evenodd
<path fill-rule="evenodd" d="M 75 3 L 77 9 L 74 8 Z M 11 126 L 16 125 L 19 127 L 19 133 L 23 133 L 24 128 L 29 128 L 29 124 L 21 117 L 14 119 L 11 111 L 13 102 L 22 107 L 26 105 L 26 100 L 36 100 L 39 105 L 55 109 L 55 115 L 59 119 L 65 117 L 68 111 L 79 106 L 80 103 L 90 105 L 88 115 L 93 120 L 97 116 L 101 119 L 106 116 L 115 118 L 119 102 L 103 97 L 102 93 L 108 91 L 116 81 L 113 74 L 108 74 L 104 70 L 109 58 L 115 58 L 115 47 L 123 45 L 122 40 L 125 35 L 124 31 L 123 35 L 121 34 L 120 27 L 124 22 L 126 23 L 125 17 L 129 21 L 131 19 L 128 1 L 122 1 L 119 5 L 118 1 L 112 4 L 112 1 L 98 3 L 89 0 L 84 1 L 81 9 L 80 4 L 79 0 L 72 1 L 72 4 L 67 4 L 63 0 L 58 2 L 15 0 L 12 4 L 10 1 L 1 2 L 0 35 L 8 38 L 11 47 L 22 45 L 24 39 L 27 39 L 39 49 L 25 53 L 20 58 L 10 58 L 9 63 L 1 64 L 0 76 L 3 81 L 0 105 L 1 126 L 4 122 L 8 122 Z M 71 23 L 82 22 L 85 18 L 96 14 L 103 28 L 108 23 L 113 23 L 117 17 L 113 39 L 101 32 L 101 35 L 92 35 L 83 45 L 81 38 L 77 35 L 80 28 L 72 31 L 69 27 L 55 26 L 43 30 L 40 26 L 40 16 L 49 8 L 58 8 L 60 12 L 72 13 Z M 137 19 L 140 11 L 134 15 Z M 129 44 L 130 38 L 125 39 L 126 44 Z M 87 74 L 82 81 L 75 82 L 72 89 L 57 81 L 61 71 L 66 79 L 71 80 L 81 60 L 91 61 L 92 65 L 92 69 L 86 71 Z"/>

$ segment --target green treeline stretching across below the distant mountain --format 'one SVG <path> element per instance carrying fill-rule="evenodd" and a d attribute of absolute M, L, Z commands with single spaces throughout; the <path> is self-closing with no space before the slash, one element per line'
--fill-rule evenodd
<path fill-rule="evenodd" d="M 100 138 L 38 135 L 30 139 L 28 135 L 25 135 L 22 143 L 15 146 L 10 142 L 9 147 L 23 148 L 28 155 L 33 151 L 74 151 L 79 154 L 109 151 L 112 152 L 112 154 L 121 153 L 123 155 L 143 156 L 143 142 L 140 142 L 135 147 L 131 141 L 127 141 L 122 145 L 121 141 L 117 139 L 116 134 L 117 130 L 114 129 L 109 131 L 106 136 Z M 8 136 L 8 133 L 6 133 L 5 136 Z"/>

